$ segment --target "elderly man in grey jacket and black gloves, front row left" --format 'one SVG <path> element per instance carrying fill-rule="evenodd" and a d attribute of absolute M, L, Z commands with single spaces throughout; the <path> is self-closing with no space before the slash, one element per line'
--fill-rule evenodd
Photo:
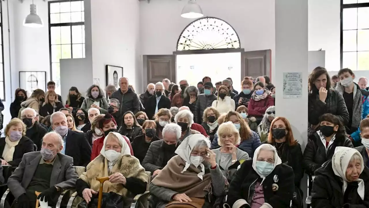
<path fill-rule="evenodd" d="M 63 139 L 56 132 L 45 134 L 42 149 L 23 155 L 22 162 L 9 177 L 7 185 L 17 199 L 18 208 L 29 208 L 38 199 L 56 205 L 63 189 L 75 188 L 78 175 L 73 158 L 61 154 Z"/>

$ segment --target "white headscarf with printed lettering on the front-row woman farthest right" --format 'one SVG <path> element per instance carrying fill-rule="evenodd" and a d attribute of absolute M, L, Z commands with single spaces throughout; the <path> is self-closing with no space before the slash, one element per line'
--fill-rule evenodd
<path fill-rule="evenodd" d="M 347 188 L 347 178 L 346 178 L 346 170 L 347 166 L 350 163 L 350 160 L 354 154 L 360 156 L 361 162 L 361 172 L 364 170 L 364 160 L 361 156 L 360 152 L 355 150 L 354 148 L 349 147 L 336 147 L 334 150 L 334 154 L 332 157 L 332 169 L 335 175 L 341 177 L 343 179 L 342 192 L 345 194 Z M 362 200 L 364 200 L 364 181 L 360 178 L 356 179 L 358 181 L 358 194 Z"/>

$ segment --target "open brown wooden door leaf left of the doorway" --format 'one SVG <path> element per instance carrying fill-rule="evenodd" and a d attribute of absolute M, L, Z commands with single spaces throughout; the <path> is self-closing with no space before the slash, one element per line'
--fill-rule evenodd
<path fill-rule="evenodd" d="M 146 55 L 144 56 L 144 70 L 145 68 L 147 70 L 146 84 L 155 84 L 165 78 L 176 83 L 175 55 Z"/>

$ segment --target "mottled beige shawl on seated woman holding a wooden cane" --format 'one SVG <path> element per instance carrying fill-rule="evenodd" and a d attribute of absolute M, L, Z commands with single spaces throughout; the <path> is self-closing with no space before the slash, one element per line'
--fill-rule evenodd
<path fill-rule="evenodd" d="M 100 182 L 96 177 L 108 177 L 111 174 L 120 172 L 124 177 L 135 177 L 144 182 L 147 182 L 147 175 L 144 167 L 141 166 L 139 160 L 131 155 L 122 155 L 116 162 L 111 171 L 108 172 L 108 161 L 103 155 L 99 155 L 87 165 L 87 171 L 80 175 L 83 181 L 86 181 L 90 188 L 94 191 L 99 191 Z M 103 192 L 115 192 L 123 197 L 127 197 L 128 190 L 118 183 L 104 182 Z"/>

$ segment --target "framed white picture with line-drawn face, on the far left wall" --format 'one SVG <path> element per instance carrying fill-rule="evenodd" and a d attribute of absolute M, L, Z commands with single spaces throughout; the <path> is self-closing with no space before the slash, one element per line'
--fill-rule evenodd
<path fill-rule="evenodd" d="M 36 89 L 46 92 L 46 72 L 45 71 L 20 71 L 19 87 L 30 96 Z"/>

